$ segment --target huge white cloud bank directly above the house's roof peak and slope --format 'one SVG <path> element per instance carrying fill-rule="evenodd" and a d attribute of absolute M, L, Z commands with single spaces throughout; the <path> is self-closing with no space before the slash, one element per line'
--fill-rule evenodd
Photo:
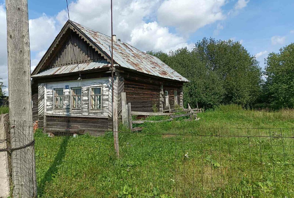
<path fill-rule="evenodd" d="M 155 19 L 154 10 L 159 0 L 115 1 L 113 4 L 113 33 L 123 42 L 132 44 L 140 50 L 168 52 L 188 45 L 184 37 L 173 34 L 167 27 L 160 26 Z M 69 5 L 70 19 L 103 34 L 111 35 L 109 0 L 88 0 L 72 2 Z M 88 9 L 88 10 L 87 10 Z M 146 23 L 149 19 L 153 22 Z M 67 11 L 57 15 L 64 24 Z M 152 42 L 150 40 L 152 39 Z"/>

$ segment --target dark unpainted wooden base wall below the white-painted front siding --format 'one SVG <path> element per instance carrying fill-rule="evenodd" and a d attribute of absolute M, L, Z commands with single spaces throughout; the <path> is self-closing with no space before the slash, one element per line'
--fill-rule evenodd
<path fill-rule="evenodd" d="M 47 116 L 46 119 L 46 132 L 53 133 L 58 129 L 75 129 L 78 134 L 100 136 L 112 128 L 112 124 L 108 126 L 111 123 L 108 118 Z"/>

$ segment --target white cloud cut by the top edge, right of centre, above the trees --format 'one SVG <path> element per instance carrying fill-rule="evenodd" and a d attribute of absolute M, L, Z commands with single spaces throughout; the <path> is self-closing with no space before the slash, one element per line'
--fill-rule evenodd
<path fill-rule="evenodd" d="M 165 0 L 158 9 L 158 22 L 191 33 L 205 25 L 225 19 L 226 0 Z"/>

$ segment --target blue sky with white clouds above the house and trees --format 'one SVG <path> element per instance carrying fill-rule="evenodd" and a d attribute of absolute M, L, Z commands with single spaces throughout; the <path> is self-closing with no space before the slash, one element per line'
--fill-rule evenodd
<path fill-rule="evenodd" d="M 6 27 L 0 0 L 0 25 Z M 28 0 L 31 69 L 67 20 L 66 0 Z M 203 37 L 239 41 L 260 66 L 294 42 L 293 0 L 113 0 L 114 33 L 143 51 L 191 48 Z M 110 35 L 110 0 L 69 0 L 71 19 Z M 0 77 L 7 86 L 6 28 L 0 30 Z M 7 91 L 7 89 L 6 89 Z"/>

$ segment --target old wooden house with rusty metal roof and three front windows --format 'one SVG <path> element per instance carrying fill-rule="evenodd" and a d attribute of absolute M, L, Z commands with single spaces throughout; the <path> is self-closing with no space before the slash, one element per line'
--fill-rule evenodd
<path fill-rule="evenodd" d="M 158 58 L 113 41 L 114 101 L 132 111 L 183 105 L 188 80 Z M 39 127 L 102 134 L 112 129 L 111 37 L 67 21 L 32 72 L 33 119 Z M 97 132 L 98 131 L 98 132 Z"/>

